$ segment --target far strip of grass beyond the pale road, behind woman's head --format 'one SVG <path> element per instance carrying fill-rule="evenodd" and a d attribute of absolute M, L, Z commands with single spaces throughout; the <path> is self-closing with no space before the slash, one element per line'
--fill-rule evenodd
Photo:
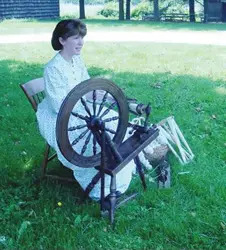
<path fill-rule="evenodd" d="M 76 18 L 76 16 L 70 16 Z M 64 17 L 67 18 L 67 17 Z M 33 34 L 51 33 L 59 19 L 55 20 L 4 20 L 0 22 L 0 34 Z M 152 31 L 152 30 L 174 30 L 174 31 L 203 31 L 220 32 L 226 30 L 226 24 L 204 24 L 204 23 L 172 23 L 172 22 L 145 22 L 145 21 L 118 21 L 111 19 L 86 19 L 84 22 L 88 30 L 92 31 Z"/>

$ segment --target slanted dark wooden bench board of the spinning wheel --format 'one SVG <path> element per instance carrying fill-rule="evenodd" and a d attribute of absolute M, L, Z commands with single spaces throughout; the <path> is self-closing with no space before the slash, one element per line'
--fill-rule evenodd
<path fill-rule="evenodd" d="M 108 158 L 106 162 L 105 174 L 116 175 L 133 160 L 146 146 L 148 146 L 159 134 L 156 127 L 150 128 L 147 133 L 135 132 L 129 139 L 123 142 L 118 148 L 118 152 L 122 157 L 122 161 L 117 163 L 114 158 Z"/>

